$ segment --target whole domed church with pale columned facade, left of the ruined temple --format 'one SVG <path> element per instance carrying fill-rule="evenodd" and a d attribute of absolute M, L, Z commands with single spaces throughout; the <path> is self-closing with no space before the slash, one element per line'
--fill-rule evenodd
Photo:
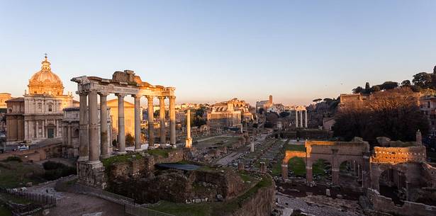
<path fill-rule="evenodd" d="M 64 94 L 62 81 L 52 72 L 47 57 L 41 64 L 23 97 L 6 101 L 8 143 L 62 137 L 62 110 L 73 106 L 72 93 Z"/>

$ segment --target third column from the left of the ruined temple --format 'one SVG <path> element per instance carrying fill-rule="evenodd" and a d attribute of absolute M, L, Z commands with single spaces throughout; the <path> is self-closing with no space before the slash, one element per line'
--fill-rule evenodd
<path fill-rule="evenodd" d="M 108 106 L 106 96 L 108 93 L 99 93 L 100 95 L 100 154 L 101 158 L 109 157 L 108 153 Z"/>

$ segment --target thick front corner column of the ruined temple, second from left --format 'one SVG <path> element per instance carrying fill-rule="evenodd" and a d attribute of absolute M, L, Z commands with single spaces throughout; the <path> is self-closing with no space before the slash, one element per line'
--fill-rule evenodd
<path fill-rule="evenodd" d="M 89 163 L 98 163 L 100 157 L 99 149 L 99 123 L 98 123 L 98 109 L 97 109 L 97 93 L 95 91 L 89 92 L 89 126 L 88 126 L 88 143 L 89 143 Z"/>

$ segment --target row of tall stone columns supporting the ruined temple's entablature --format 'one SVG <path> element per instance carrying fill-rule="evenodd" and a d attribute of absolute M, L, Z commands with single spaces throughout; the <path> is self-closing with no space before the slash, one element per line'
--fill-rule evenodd
<path fill-rule="evenodd" d="M 100 157 L 108 157 L 108 113 L 107 113 L 107 96 L 108 93 L 98 93 L 100 95 L 100 140 L 99 147 L 99 122 L 98 122 L 98 105 L 97 92 L 79 93 L 79 159 L 78 161 L 89 161 L 90 163 L 99 162 Z M 118 96 L 118 154 L 125 154 L 125 123 L 124 123 L 124 97 L 123 93 L 116 93 Z M 155 143 L 154 136 L 154 118 L 153 118 L 153 97 L 146 96 L 148 100 L 148 135 L 149 143 Z M 135 98 L 135 150 L 141 149 L 141 127 L 140 127 L 140 95 L 133 95 Z M 161 138 L 160 142 L 166 142 L 165 139 L 165 107 L 164 97 L 160 97 L 160 123 Z M 169 125 L 170 125 L 170 143 L 176 144 L 176 120 L 175 120 L 175 97 L 169 97 Z"/>

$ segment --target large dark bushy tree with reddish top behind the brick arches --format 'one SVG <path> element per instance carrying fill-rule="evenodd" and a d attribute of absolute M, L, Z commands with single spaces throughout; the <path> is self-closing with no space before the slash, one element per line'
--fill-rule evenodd
<path fill-rule="evenodd" d="M 414 141 L 418 129 L 423 135 L 429 129 L 417 101 L 418 94 L 408 88 L 373 93 L 370 100 L 340 110 L 334 135 L 345 140 L 362 137 L 372 144 L 376 144 L 376 137 Z"/>

